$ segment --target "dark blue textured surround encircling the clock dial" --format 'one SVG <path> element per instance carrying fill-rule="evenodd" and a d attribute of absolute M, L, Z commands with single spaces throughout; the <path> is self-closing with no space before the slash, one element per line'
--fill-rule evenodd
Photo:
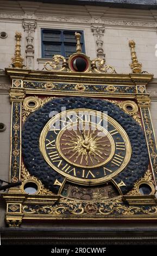
<path fill-rule="evenodd" d="M 121 187 L 123 194 L 133 188 L 135 181 L 145 174 L 149 156 L 145 135 L 140 125 L 114 103 L 90 99 L 86 97 L 63 97 L 49 101 L 40 109 L 29 115 L 22 129 L 22 156 L 23 161 L 31 175 L 39 178 L 46 188 L 54 193 L 58 193 L 59 186 L 53 185 L 57 179 L 62 183 L 64 176 L 55 172 L 43 159 L 39 149 L 40 133 L 49 121 L 49 113 L 52 111 L 61 112 L 61 107 L 68 109 L 87 108 L 95 111 L 108 112 L 108 115 L 115 119 L 118 124 L 127 132 L 131 143 L 131 159 L 127 167 L 115 176 L 114 180 L 118 184 L 122 180 L 126 186 Z"/>

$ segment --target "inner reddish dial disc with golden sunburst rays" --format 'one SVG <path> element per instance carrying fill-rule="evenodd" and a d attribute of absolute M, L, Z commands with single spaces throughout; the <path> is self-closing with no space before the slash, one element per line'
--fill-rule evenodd
<path fill-rule="evenodd" d="M 112 158 L 115 144 L 102 126 L 78 120 L 59 132 L 56 148 L 63 159 L 75 166 L 97 168 Z"/>

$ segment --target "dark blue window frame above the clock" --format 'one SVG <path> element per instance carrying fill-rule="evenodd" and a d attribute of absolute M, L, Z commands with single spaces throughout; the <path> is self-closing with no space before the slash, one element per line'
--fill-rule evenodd
<path fill-rule="evenodd" d="M 56 42 L 52 42 L 52 41 L 46 41 L 46 40 L 43 40 L 43 35 L 44 35 L 44 33 L 46 33 L 46 32 L 51 32 L 51 31 L 53 31 L 53 32 L 60 32 L 60 34 L 61 34 L 61 38 L 60 38 L 60 41 L 56 41 Z M 68 41 L 64 41 L 64 32 L 65 32 L 65 34 L 66 34 L 66 32 L 68 32 L 68 33 L 74 33 L 74 32 L 76 32 L 76 30 L 72 30 L 72 29 L 54 29 L 54 28 L 41 28 L 41 58 L 46 58 L 46 56 L 45 56 L 45 52 L 44 52 L 44 47 L 43 47 L 43 45 L 44 44 L 49 44 L 49 45 L 52 45 L 52 44 L 54 44 L 54 45 L 56 45 L 56 44 L 58 44 L 58 45 L 61 45 L 61 55 L 62 56 L 64 56 L 65 57 L 65 45 L 72 45 L 72 46 L 74 46 L 74 45 L 76 45 L 77 44 L 77 42 L 68 42 Z M 81 48 L 82 48 L 82 52 L 83 53 L 85 53 L 85 40 L 84 40 L 84 31 L 81 31 L 81 30 L 77 30 L 77 32 L 78 33 L 81 33 L 81 40 L 80 40 L 80 43 L 81 43 Z"/>

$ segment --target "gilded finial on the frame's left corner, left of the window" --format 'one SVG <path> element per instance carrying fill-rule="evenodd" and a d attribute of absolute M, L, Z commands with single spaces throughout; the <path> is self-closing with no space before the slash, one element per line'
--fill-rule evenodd
<path fill-rule="evenodd" d="M 16 69 L 22 69 L 23 68 L 23 58 L 21 57 L 21 32 L 15 33 L 15 39 L 16 39 L 16 45 L 15 45 L 15 53 L 14 57 L 12 58 L 12 66 Z"/>

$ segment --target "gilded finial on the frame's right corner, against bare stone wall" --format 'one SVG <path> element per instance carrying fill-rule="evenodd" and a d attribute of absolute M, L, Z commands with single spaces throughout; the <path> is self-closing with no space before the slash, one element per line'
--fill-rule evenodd
<path fill-rule="evenodd" d="M 132 63 L 130 64 L 131 69 L 133 69 L 133 73 L 141 73 L 142 72 L 142 64 L 138 62 L 136 52 L 135 52 L 135 41 L 130 40 L 129 46 L 131 50 L 131 59 Z"/>

